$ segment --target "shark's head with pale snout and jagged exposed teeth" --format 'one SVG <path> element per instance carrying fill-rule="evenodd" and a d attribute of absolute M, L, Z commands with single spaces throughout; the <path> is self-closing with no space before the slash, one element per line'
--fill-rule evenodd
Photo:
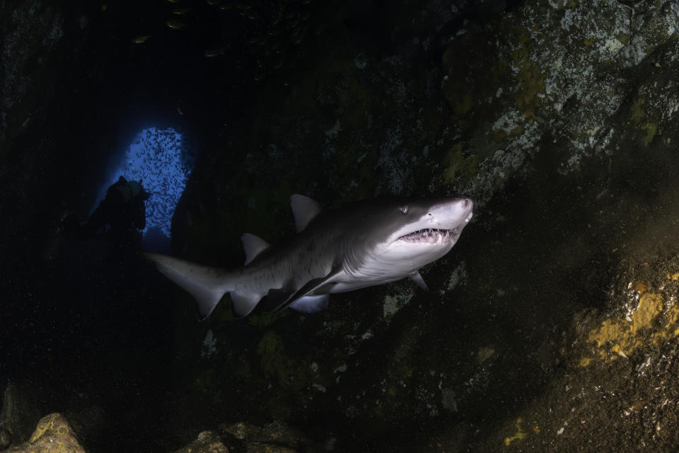
<path fill-rule="evenodd" d="M 412 273 L 453 248 L 473 207 L 468 197 L 385 202 L 366 215 L 361 234 L 366 254 L 350 267 L 376 277 Z"/>

